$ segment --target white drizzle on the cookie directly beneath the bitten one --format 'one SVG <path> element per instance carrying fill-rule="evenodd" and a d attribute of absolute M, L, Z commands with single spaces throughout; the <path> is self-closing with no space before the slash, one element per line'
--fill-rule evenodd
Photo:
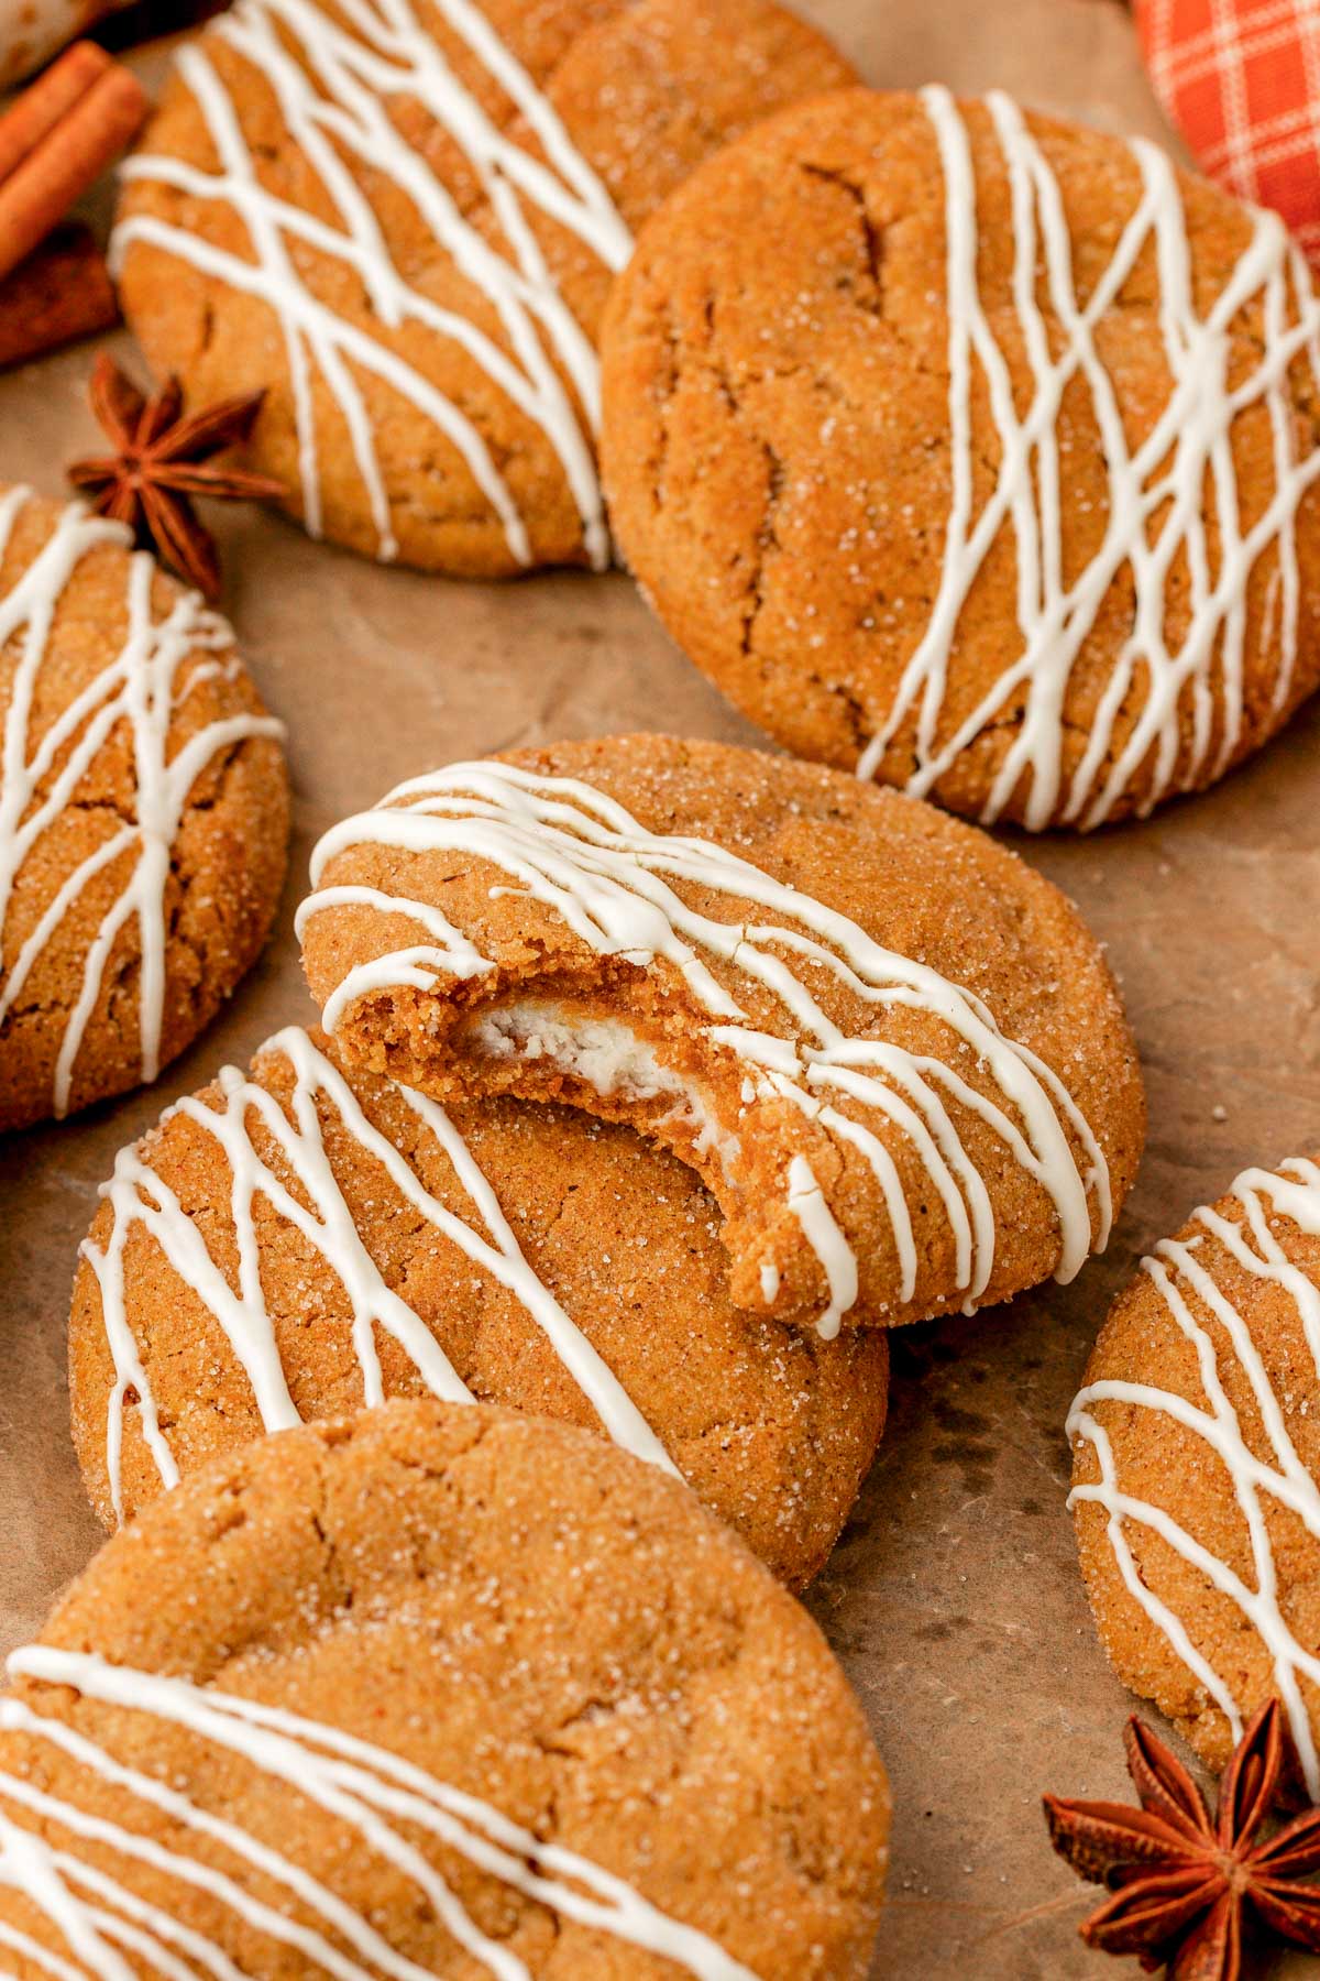
<path fill-rule="evenodd" d="M 449 1163 L 455 1181 L 467 1195 L 471 1222 L 455 1216 L 425 1189 L 412 1163 L 368 1121 L 340 1070 L 307 1032 L 289 1026 L 267 1040 L 261 1054 L 283 1056 L 289 1064 L 293 1074 L 289 1113 L 267 1088 L 247 1080 L 237 1068 L 226 1066 L 218 1080 L 220 1105 L 190 1097 L 162 1115 L 162 1125 L 182 1115 L 210 1135 L 224 1153 L 230 1167 L 226 1210 L 237 1246 L 237 1288 L 216 1264 L 202 1226 L 184 1212 L 174 1191 L 137 1147 L 121 1149 L 115 1175 L 103 1185 L 101 1195 L 113 1208 L 105 1244 L 83 1242 L 83 1256 L 101 1290 L 101 1315 L 115 1363 L 105 1452 L 115 1515 L 123 1519 L 123 1422 L 131 1391 L 139 1399 L 142 1438 L 160 1482 L 166 1488 L 178 1484 L 178 1464 L 160 1428 L 156 1399 L 129 1319 L 125 1248 L 135 1230 L 142 1230 L 154 1240 L 170 1268 L 224 1329 L 267 1430 L 287 1430 L 299 1422 L 299 1412 L 289 1395 L 261 1284 L 261 1248 L 253 1216 L 257 1199 L 265 1199 L 277 1216 L 317 1250 L 340 1282 L 352 1307 L 352 1349 L 362 1371 L 364 1407 L 384 1401 L 374 1339 L 378 1327 L 408 1355 L 435 1397 L 449 1403 L 473 1401 L 431 1329 L 408 1302 L 386 1286 L 364 1246 L 325 1151 L 319 1103 L 329 1109 L 336 1127 L 350 1135 L 366 1157 L 382 1165 L 400 1197 L 425 1218 L 437 1238 L 457 1246 L 520 1302 L 596 1410 L 608 1436 L 637 1458 L 673 1472 L 661 1440 L 629 1401 L 617 1377 L 528 1266 L 491 1183 L 443 1107 L 408 1088 L 394 1090 L 418 1115 Z M 257 1149 L 255 1125 L 269 1145 L 267 1153 Z"/>

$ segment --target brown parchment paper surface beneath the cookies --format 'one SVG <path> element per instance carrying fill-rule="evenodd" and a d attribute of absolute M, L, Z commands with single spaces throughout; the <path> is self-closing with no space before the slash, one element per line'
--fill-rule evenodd
<path fill-rule="evenodd" d="M 1116 0 L 800 0 L 879 85 L 1003 85 L 1168 139 Z M 150 77 L 162 52 L 137 57 Z M 127 341 L 125 341 L 127 343 Z M 85 349 L 0 378 L 0 477 L 57 493 L 85 452 Z M 560 735 L 756 741 L 623 576 L 459 586 L 226 517 L 228 608 L 289 723 L 297 830 L 277 939 L 156 1090 L 0 1147 L 0 1648 L 99 1539 L 67 1438 L 75 1248 L 115 1151 L 224 1060 L 311 1020 L 291 915 L 313 838 L 431 763 Z M 1320 705 L 1263 759 L 1152 824 L 1021 842 L 1110 945 L 1146 1076 L 1146 1167 L 1116 1240 L 1067 1288 L 895 1341 L 893 1418 L 811 1609 L 895 1785 L 875 1975 L 1110 1971 L 1077 1939 L 1096 1894 L 1045 1842 L 1039 1793 L 1126 1797 L 1130 1700 L 1098 1650 L 1063 1510 L 1063 1420 L 1136 1254 L 1245 1163 L 1320 1147 Z M 1215 1119 L 1217 1109 L 1225 1111 Z M 1136 1975 L 1136 1963 L 1114 1967 Z M 1296 1957 L 1278 1973 L 1316 1975 Z"/>

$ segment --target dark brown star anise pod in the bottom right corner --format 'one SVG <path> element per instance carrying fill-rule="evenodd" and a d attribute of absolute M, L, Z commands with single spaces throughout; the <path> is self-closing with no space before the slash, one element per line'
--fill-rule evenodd
<path fill-rule="evenodd" d="M 1267 1700 L 1229 1761 L 1211 1821 L 1205 1797 L 1140 1720 L 1126 1727 L 1128 1773 L 1142 1799 L 1063 1803 L 1045 1797 L 1059 1856 L 1114 1894 L 1081 1928 L 1088 1947 L 1136 1953 L 1174 1981 L 1237 1981 L 1243 1929 L 1263 1928 L 1320 1953 L 1320 1809 L 1257 1842 L 1296 1769 L 1278 1700 Z"/>

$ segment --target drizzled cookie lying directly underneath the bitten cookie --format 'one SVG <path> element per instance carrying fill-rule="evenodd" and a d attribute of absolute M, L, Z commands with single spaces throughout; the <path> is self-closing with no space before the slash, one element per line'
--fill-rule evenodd
<path fill-rule="evenodd" d="M 125 1149 L 105 1197 L 69 1389 L 107 1525 L 263 1430 L 433 1393 L 677 1466 L 801 1587 L 885 1426 L 885 1337 L 738 1313 L 675 1157 L 572 1109 L 441 1109 L 295 1026 Z"/>

